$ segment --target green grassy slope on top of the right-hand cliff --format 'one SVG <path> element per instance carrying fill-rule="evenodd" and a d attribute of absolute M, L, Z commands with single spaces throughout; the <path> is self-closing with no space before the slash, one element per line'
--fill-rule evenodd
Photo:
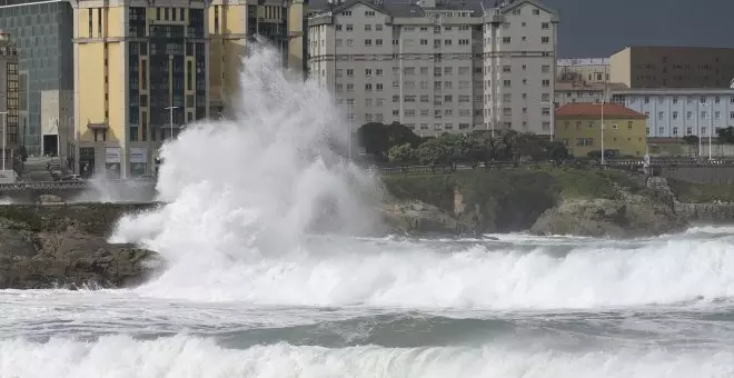
<path fill-rule="evenodd" d="M 463 217 L 485 230 L 516 231 L 532 226 L 564 198 L 614 198 L 614 185 L 639 189 L 623 172 L 579 169 L 514 168 L 469 170 L 447 175 L 390 176 L 384 182 L 400 199 L 418 199 L 453 211 L 454 188 L 460 188 Z M 479 211 L 473 211 L 478 209 Z"/>

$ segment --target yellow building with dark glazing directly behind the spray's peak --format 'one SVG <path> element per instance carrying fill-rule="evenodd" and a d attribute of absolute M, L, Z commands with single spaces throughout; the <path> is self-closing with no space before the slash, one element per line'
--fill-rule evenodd
<path fill-rule="evenodd" d="M 248 40 L 264 37 L 278 48 L 282 64 L 305 72 L 307 0 L 214 0 L 209 6 L 209 92 L 212 115 L 237 103 L 239 71 Z M 275 62 L 274 62 L 275 63 Z"/>

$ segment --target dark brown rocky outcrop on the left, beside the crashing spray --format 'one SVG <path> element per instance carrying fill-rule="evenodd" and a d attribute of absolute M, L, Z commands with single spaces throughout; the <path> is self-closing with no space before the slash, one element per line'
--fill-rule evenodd
<path fill-rule="evenodd" d="M 111 245 L 125 213 L 155 203 L 0 206 L 0 289 L 123 287 L 143 281 L 162 261 L 153 251 Z"/>

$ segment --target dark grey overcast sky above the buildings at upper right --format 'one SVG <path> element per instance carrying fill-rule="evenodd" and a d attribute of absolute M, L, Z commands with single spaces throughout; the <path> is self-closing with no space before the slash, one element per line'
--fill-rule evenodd
<path fill-rule="evenodd" d="M 734 48 L 734 0 L 542 2 L 561 16 L 561 58 L 604 58 L 625 46 L 639 44 Z M 326 0 L 311 0 L 316 7 L 323 3 Z M 494 4 L 494 0 L 485 3 Z"/>

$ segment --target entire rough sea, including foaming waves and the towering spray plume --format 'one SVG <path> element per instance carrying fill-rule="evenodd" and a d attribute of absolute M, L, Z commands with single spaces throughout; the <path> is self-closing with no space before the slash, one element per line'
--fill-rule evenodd
<path fill-rule="evenodd" d="M 126 289 L 0 290 L 0 378 L 732 378 L 734 227 L 377 236 L 344 109 L 268 47 L 231 119 L 161 150 Z"/>

